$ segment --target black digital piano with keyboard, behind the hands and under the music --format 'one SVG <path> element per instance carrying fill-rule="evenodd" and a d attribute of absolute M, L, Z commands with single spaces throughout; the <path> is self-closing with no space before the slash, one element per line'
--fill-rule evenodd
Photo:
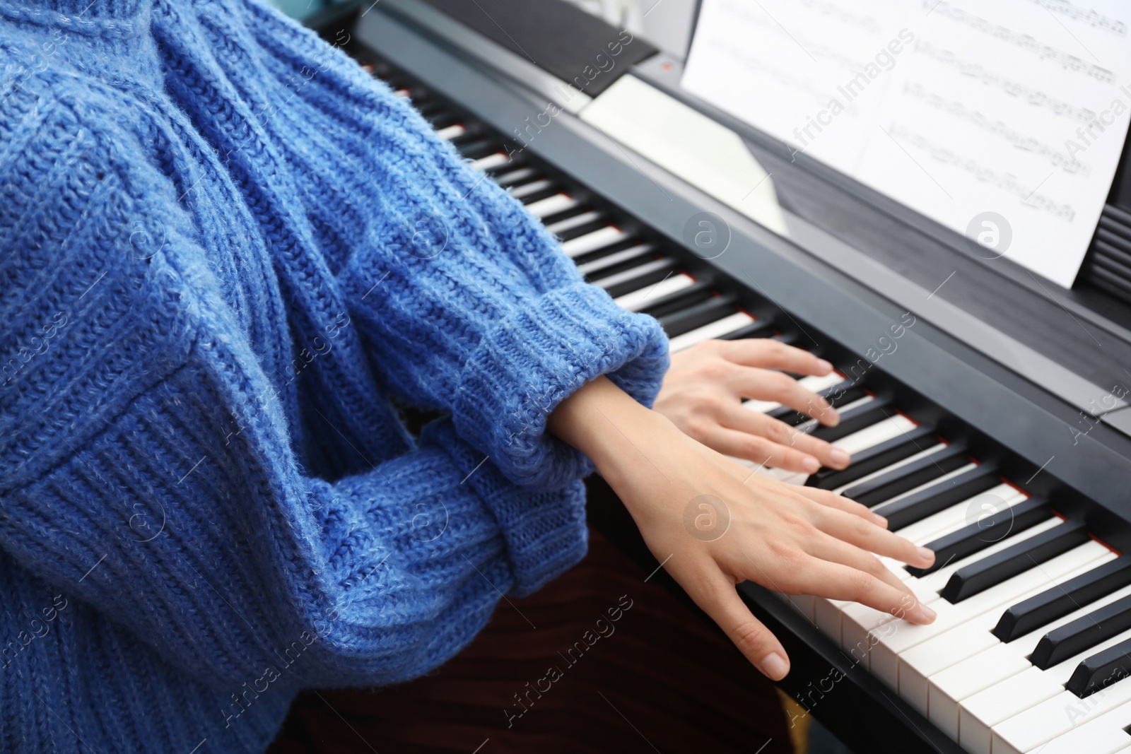
<path fill-rule="evenodd" d="M 1131 752 L 1125 164 L 1064 289 L 697 99 L 679 59 L 564 2 L 364 0 L 308 23 L 673 350 L 774 337 L 837 366 L 804 378 L 836 427 L 750 407 L 853 453 L 778 476 L 936 551 L 891 567 L 939 618 L 741 584 L 791 655 L 789 696 L 858 752 Z M 657 567 L 623 510 L 592 520 Z"/>

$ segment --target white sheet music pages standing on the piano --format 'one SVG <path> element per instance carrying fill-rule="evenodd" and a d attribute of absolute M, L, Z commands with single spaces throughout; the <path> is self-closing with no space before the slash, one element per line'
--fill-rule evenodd
<path fill-rule="evenodd" d="M 1069 287 L 1131 121 L 1121 0 L 703 0 L 683 87 Z"/>

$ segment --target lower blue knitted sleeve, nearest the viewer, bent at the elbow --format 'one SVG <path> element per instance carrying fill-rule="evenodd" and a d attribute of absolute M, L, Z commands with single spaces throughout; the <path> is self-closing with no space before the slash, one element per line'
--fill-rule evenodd
<path fill-rule="evenodd" d="M 417 676 L 584 554 L 580 483 L 516 488 L 450 422 L 304 475 L 172 183 L 106 103 L 31 88 L 0 119 L 0 547 L 24 567 L 239 688 Z"/>

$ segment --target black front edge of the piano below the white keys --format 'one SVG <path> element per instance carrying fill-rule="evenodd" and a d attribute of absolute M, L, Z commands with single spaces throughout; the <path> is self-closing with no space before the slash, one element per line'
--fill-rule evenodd
<path fill-rule="evenodd" d="M 605 480 L 594 474 L 586 479 L 586 488 L 589 525 L 640 565 L 645 573 L 655 571 L 651 579 L 658 580 L 688 609 L 718 631 L 666 571 L 657 571 L 659 563 L 648 551 L 632 517 Z M 804 700 L 803 707 L 851 749 L 858 754 L 964 754 L 957 743 L 867 670 L 853 666 L 851 657 L 768 590 L 746 582 L 739 586 L 739 593 L 789 653 L 789 675 L 777 686 L 789 697 Z M 734 661 L 742 664 L 751 678 L 760 675 L 737 649 L 734 650 Z"/>

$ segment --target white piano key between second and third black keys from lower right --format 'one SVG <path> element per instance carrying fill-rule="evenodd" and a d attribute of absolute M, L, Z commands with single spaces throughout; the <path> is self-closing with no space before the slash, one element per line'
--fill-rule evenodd
<path fill-rule="evenodd" d="M 1093 565 L 1091 567 L 1097 566 Z M 1050 631 L 1124 597 L 1131 597 L 1131 587 L 1113 591 L 1111 595 L 1083 605 L 1079 609 L 1035 629 L 1024 636 L 1018 636 L 1013 641 L 998 640 L 988 649 L 955 662 L 947 669 L 931 676 L 927 690 L 927 710 L 931 721 L 951 738 L 958 740 L 959 702 L 1005 681 L 1010 676 L 1033 668 L 1028 657 L 1037 648 L 1042 636 Z M 998 615 L 998 617 L 1001 616 Z"/>

